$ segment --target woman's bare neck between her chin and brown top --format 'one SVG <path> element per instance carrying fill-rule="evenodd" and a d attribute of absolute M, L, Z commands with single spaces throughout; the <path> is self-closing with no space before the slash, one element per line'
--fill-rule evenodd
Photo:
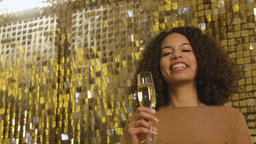
<path fill-rule="evenodd" d="M 183 83 L 176 86 L 168 86 L 170 107 L 204 106 L 197 95 L 196 82 Z"/>

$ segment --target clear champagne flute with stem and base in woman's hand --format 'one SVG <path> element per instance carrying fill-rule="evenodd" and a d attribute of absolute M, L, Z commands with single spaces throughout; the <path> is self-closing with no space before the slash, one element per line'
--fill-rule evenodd
<path fill-rule="evenodd" d="M 155 87 L 152 78 L 152 74 L 148 71 L 141 72 L 137 75 L 138 79 L 138 100 L 139 105 L 144 107 L 149 107 L 150 109 L 154 109 L 156 104 L 156 97 L 155 97 Z M 153 127 L 152 123 L 149 120 L 149 138 L 143 140 L 141 144 L 165 144 L 164 140 L 154 137 L 152 134 Z"/>

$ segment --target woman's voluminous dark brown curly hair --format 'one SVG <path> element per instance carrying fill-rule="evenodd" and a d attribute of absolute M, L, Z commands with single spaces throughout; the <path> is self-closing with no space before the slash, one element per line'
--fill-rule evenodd
<path fill-rule="evenodd" d="M 183 34 L 189 40 L 197 60 L 197 93 L 205 105 L 223 105 L 231 94 L 236 92 L 236 64 L 228 53 L 212 37 L 196 27 L 175 27 L 171 31 L 161 32 L 147 45 L 143 58 L 139 61 L 137 72 L 132 79 L 130 92 L 137 92 L 136 75 L 141 71 L 150 71 L 156 92 L 156 109 L 169 102 L 166 83 L 160 73 L 160 49 L 162 41 L 172 33 Z"/>

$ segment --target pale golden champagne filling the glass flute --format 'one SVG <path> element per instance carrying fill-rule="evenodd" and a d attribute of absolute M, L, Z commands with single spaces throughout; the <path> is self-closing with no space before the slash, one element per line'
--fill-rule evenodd
<path fill-rule="evenodd" d="M 154 109 L 156 104 L 155 88 L 152 83 L 141 83 L 138 85 L 139 105 Z"/>

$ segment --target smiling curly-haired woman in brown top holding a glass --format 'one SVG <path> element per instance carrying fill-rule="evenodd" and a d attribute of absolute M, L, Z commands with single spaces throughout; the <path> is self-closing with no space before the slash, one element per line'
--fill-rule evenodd
<path fill-rule="evenodd" d="M 210 35 L 195 27 L 160 33 L 144 51 L 141 71 L 153 75 L 158 112 L 138 107 L 126 122 L 125 143 L 146 139 L 149 120 L 166 143 L 253 143 L 240 111 L 223 106 L 236 91 L 236 67 Z"/>

